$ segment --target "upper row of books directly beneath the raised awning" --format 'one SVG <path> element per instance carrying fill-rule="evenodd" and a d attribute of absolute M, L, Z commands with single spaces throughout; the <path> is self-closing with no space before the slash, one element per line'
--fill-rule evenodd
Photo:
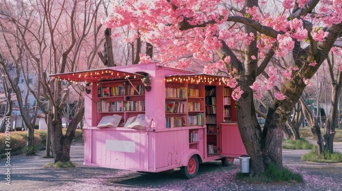
<path fill-rule="evenodd" d="M 116 95 L 141 95 L 145 93 L 144 85 L 118 85 L 117 87 L 98 87 L 98 98 Z"/>

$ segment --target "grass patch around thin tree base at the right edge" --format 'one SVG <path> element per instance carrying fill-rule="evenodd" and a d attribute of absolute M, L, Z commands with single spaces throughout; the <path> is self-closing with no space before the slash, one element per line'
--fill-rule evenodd
<path fill-rule="evenodd" d="M 321 155 L 318 155 L 317 148 L 314 147 L 309 153 L 302 156 L 302 160 L 312 162 L 342 162 L 342 154 L 334 151 L 324 151 Z"/>

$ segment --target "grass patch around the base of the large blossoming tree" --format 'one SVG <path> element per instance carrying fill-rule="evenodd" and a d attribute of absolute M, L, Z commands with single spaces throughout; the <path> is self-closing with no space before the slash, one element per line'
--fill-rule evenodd
<path fill-rule="evenodd" d="M 248 181 L 250 183 L 262 183 L 262 182 L 302 182 L 304 181 L 302 175 L 299 173 L 293 173 L 288 168 L 282 168 L 278 170 L 275 164 L 269 164 L 263 175 L 249 177 L 244 173 L 237 173 L 237 179 Z"/>

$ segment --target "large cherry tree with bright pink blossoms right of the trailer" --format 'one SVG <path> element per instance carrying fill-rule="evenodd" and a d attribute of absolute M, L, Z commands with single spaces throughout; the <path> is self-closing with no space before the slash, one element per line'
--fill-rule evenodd
<path fill-rule="evenodd" d="M 185 68 L 201 61 L 207 63 L 204 72 L 226 72 L 251 172 L 261 174 L 269 163 L 282 168 L 285 121 L 341 39 L 341 7 L 341 0 L 114 1 L 114 14 L 103 23 L 139 31 L 127 41 L 141 38 L 152 44 L 161 64 L 175 61 L 174 66 Z M 213 62 L 215 55 L 220 59 Z M 275 58 L 287 68 L 279 70 Z M 274 95 L 263 129 L 253 102 L 262 91 Z"/>

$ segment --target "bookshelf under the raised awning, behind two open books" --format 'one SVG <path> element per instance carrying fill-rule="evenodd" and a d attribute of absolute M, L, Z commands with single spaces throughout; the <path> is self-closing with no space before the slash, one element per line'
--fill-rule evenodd
<path fill-rule="evenodd" d="M 97 84 L 98 121 L 115 113 L 122 116 L 119 127 L 123 127 L 129 117 L 144 114 L 145 107 L 145 89 L 141 80 L 131 80 L 131 83 L 105 81 Z"/>

